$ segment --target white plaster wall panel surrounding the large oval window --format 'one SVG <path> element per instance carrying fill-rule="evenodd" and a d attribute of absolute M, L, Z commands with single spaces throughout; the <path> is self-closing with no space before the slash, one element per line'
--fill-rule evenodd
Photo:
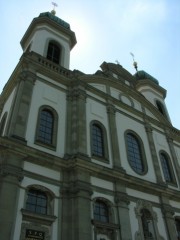
<path fill-rule="evenodd" d="M 126 170 L 128 174 L 132 176 L 149 180 L 151 182 L 156 182 L 151 152 L 149 149 L 149 143 L 148 143 L 147 134 L 144 126 L 141 123 L 135 121 L 134 119 L 131 119 L 120 113 L 116 113 L 116 122 L 117 122 L 117 134 L 118 134 L 118 142 L 119 142 L 122 167 Z M 148 165 L 148 172 L 145 175 L 139 175 L 135 173 L 134 170 L 129 165 L 129 162 L 127 159 L 125 138 L 124 138 L 124 133 L 126 130 L 132 130 L 135 133 L 137 133 L 137 135 L 141 138 L 144 144 L 144 150 L 145 150 L 145 155 L 146 155 L 146 160 Z"/>

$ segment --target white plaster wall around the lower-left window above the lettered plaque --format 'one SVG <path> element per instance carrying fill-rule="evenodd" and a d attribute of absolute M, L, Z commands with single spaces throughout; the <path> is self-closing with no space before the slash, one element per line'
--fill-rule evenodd
<path fill-rule="evenodd" d="M 41 182 L 35 179 L 31 179 L 28 177 L 25 177 L 22 181 L 21 184 L 21 188 L 20 188 L 20 193 L 19 193 L 19 201 L 18 201 L 18 207 L 17 207 L 17 215 L 16 215 L 16 220 L 15 220 L 15 231 L 13 234 L 13 240 L 17 240 L 20 239 L 20 234 L 21 234 L 21 223 L 22 223 L 22 213 L 21 213 L 21 209 L 24 208 L 24 204 L 25 204 L 25 189 L 29 186 L 29 185 L 41 185 L 43 187 L 46 187 L 47 189 L 49 189 L 51 192 L 54 193 L 54 195 L 56 196 L 55 200 L 54 200 L 54 215 L 58 216 L 58 212 L 59 212 L 59 187 L 45 183 L 45 182 Z M 57 239 L 57 234 L 58 234 L 58 218 L 55 220 L 55 222 L 52 224 L 52 235 L 53 235 L 53 239 L 56 240 Z"/>

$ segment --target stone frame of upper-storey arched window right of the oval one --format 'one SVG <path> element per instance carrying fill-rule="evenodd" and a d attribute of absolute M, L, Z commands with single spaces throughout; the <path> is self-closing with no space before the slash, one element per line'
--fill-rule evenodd
<path fill-rule="evenodd" d="M 166 163 L 167 163 L 166 166 L 168 167 L 168 171 L 169 171 L 169 174 L 170 174 L 170 177 L 171 177 L 170 181 L 167 180 L 166 177 L 165 177 L 161 156 L 165 157 L 164 159 L 166 160 Z M 175 177 L 175 174 L 174 174 L 174 170 L 173 170 L 173 166 L 172 166 L 172 162 L 171 162 L 171 159 L 169 157 L 169 154 L 167 152 L 165 152 L 164 150 L 160 150 L 159 151 L 159 158 L 160 158 L 160 162 L 161 162 L 161 168 L 162 168 L 164 181 L 169 185 L 177 186 L 176 177 Z"/>

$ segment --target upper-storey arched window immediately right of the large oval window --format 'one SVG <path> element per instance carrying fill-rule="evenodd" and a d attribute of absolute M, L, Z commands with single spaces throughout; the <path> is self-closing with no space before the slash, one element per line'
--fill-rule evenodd
<path fill-rule="evenodd" d="M 172 164 L 167 153 L 161 151 L 160 160 L 165 181 L 168 183 L 175 183 L 175 176 L 173 173 Z"/>

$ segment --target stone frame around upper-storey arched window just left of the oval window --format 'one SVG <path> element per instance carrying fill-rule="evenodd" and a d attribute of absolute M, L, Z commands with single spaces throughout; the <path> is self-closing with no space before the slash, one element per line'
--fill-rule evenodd
<path fill-rule="evenodd" d="M 95 152 L 93 150 L 93 146 L 94 146 L 94 144 L 93 144 L 93 126 L 94 125 L 97 126 L 102 133 L 102 148 L 103 148 L 102 156 L 99 156 L 99 155 L 95 154 Z M 94 158 L 96 160 L 103 161 L 103 162 L 109 162 L 106 129 L 105 129 L 104 125 L 97 120 L 93 120 L 93 121 L 90 122 L 90 142 L 91 142 L 91 156 L 92 156 L 92 158 Z"/>

